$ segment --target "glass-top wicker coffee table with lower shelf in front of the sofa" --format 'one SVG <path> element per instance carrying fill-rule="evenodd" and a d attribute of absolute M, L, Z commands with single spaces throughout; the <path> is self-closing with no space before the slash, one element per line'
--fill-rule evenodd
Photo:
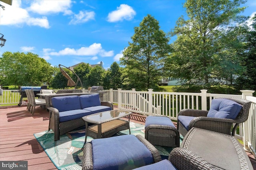
<path fill-rule="evenodd" d="M 87 136 L 93 139 L 112 137 L 126 129 L 129 129 L 131 134 L 130 114 L 132 114 L 130 111 L 110 110 L 82 117 L 86 125 L 85 143 Z M 128 121 L 120 119 L 126 116 L 128 116 Z M 93 125 L 88 126 L 88 123 Z"/>

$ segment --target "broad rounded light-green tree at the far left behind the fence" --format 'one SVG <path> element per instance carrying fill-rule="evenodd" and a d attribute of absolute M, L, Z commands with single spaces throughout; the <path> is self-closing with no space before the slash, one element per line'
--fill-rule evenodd
<path fill-rule="evenodd" d="M 1 83 L 15 86 L 41 86 L 52 78 L 53 67 L 33 53 L 2 54 Z"/>

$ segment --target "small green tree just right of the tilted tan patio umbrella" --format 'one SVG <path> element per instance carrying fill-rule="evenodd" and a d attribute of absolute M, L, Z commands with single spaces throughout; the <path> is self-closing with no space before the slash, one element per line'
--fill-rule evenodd
<path fill-rule="evenodd" d="M 78 66 L 76 66 L 74 68 L 74 72 L 78 75 L 78 77 L 82 81 L 83 88 L 88 88 L 88 86 L 89 86 L 87 79 L 88 79 L 88 75 L 89 75 L 91 69 L 92 69 L 92 67 L 86 63 L 79 64 Z M 76 82 L 77 77 L 74 74 L 72 74 L 72 79 Z M 80 82 L 78 83 L 78 86 L 79 86 L 79 84 L 80 84 Z"/>

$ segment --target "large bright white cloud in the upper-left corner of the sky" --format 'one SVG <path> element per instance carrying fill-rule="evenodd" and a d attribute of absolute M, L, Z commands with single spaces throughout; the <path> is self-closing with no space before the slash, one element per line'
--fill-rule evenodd
<path fill-rule="evenodd" d="M 50 28 L 46 17 L 33 18 L 28 14 L 27 10 L 20 8 L 20 6 L 20 0 L 12 1 L 12 6 L 6 5 L 6 10 L 0 12 L 1 25 L 22 26 L 27 24 Z"/>

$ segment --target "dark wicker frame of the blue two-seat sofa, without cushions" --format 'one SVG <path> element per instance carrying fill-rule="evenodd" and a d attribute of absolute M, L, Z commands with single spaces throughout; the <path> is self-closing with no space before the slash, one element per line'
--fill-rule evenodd
<path fill-rule="evenodd" d="M 93 93 L 90 93 L 90 94 L 93 94 Z M 54 131 L 54 141 L 59 140 L 60 135 L 63 135 L 63 134 L 70 132 L 78 127 L 82 127 L 85 125 L 82 118 L 60 122 L 59 111 L 58 111 L 58 109 L 56 109 L 52 106 L 52 98 L 58 97 L 58 96 L 74 96 L 74 95 L 81 96 L 81 95 L 85 95 L 85 93 L 52 94 L 50 96 L 45 96 L 46 108 L 49 110 L 49 113 L 50 113 L 48 131 L 50 131 L 50 129 L 52 129 L 52 131 Z M 113 110 L 113 104 L 111 102 L 100 101 L 100 103 L 102 106 L 109 106 Z"/>

